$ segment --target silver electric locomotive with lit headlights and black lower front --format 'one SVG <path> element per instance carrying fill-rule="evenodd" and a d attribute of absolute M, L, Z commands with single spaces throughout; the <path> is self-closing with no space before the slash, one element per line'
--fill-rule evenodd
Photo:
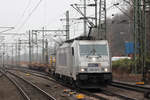
<path fill-rule="evenodd" d="M 97 88 L 112 81 L 106 40 L 75 40 L 57 50 L 55 75 L 81 88 Z"/>

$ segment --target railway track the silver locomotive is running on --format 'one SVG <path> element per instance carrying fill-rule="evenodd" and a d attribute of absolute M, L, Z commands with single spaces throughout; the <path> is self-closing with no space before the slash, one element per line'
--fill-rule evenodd
<path fill-rule="evenodd" d="M 15 70 L 18 70 L 18 69 L 15 69 Z M 30 73 L 31 75 L 34 75 L 34 76 L 37 76 L 37 77 L 41 77 L 41 78 L 47 79 L 49 81 L 53 81 L 53 82 L 59 83 L 59 84 L 61 84 L 63 86 L 69 87 L 72 90 L 76 90 L 77 92 L 89 95 L 91 97 L 94 97 L 94 98 L 97 98 L 97 99 L 100 99 L 100 100 L 109 100 L 109 99 L 107 99 L 107 98 L 105 98 L 103 96 L 99 96 L 98 94 L 100 94 L 100 93 L 103 93 L 105 95 L 109 95 L 111 97 L 117 97 L 117 98 L 120 98 L 121 100 L 136 100 L 135 98 L 130 98 L 130 97 L 127 97 L 125 95 L 120 95 L 120 94 L 111 92 L 111 91 L 109 91 L 107 89 L 104 89 L 104 88 L 100 88 L 100 90 L 102 90 L 102 91 L 98 92 L 98 93 L 92 93 L 92 92 L 89 92 L 89 91 L 86 91 L 86 90 L 75 89 L 74 87 L 72 87 L 70 85 L 66 85 L 63 82 L 58 82 L 58 81 L 54 80 L 53 78 L 48 77 L 46 74 L 40 74 L 39 72 L 36 72 L 36 71 L 28 71 L 28 70 L 20 70 L 20 69 L 19 69 L 19 71 L 24 72 L 24 73 Z"/>

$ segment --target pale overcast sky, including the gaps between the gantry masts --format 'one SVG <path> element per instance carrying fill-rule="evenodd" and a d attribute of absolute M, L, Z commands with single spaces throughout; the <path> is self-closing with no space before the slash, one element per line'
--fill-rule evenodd
<path fill-rule="evenodd" d="M 87 0 L 87 2 L 91 1 L 94 0 Z M 107 8 L 109 8 L 122 0 L 106 1 Z M 7 30 L 1 27 L 14 27 L 12 31 L 6 33 L 26 33 L 28 30 L 42 29 L 43 26 L 46 29 L 62 29 L 65 24 L 60 19 L 65 18 L 66 10 L 70 11 L 71 18 L 81 16 L 70 6 L 74 3 L 83 3 L 83 0 L 0 0 L 0 34 L 1 31 Z M 93 15 L 94 9 L 88 9 L 87 13 Z M 114 13 L 118 13 L 116 8 L 107 9 L 107 17 L 111 17 Z M 70 21 L 70 28 L 72 36 L 80 35 L 80 32 L 83 33 L 81 21 Z M 21 37 L 7 35 L 5 36 L 5 42 L 16 43 L 18 38 Z M 23 36 L 23 39 L 25 39 L 25 36 Z M 1 40 L 2 37 L 0 36 Z"/>

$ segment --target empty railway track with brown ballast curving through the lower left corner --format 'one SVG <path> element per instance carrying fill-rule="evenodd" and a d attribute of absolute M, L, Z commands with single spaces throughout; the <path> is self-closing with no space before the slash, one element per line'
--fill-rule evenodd
<path fill-rule="evenodd" d="M 6 71 L 3 74 L 18 88 L 25 100 L 56 100 L 38 86 L 14 73 Z"/>

